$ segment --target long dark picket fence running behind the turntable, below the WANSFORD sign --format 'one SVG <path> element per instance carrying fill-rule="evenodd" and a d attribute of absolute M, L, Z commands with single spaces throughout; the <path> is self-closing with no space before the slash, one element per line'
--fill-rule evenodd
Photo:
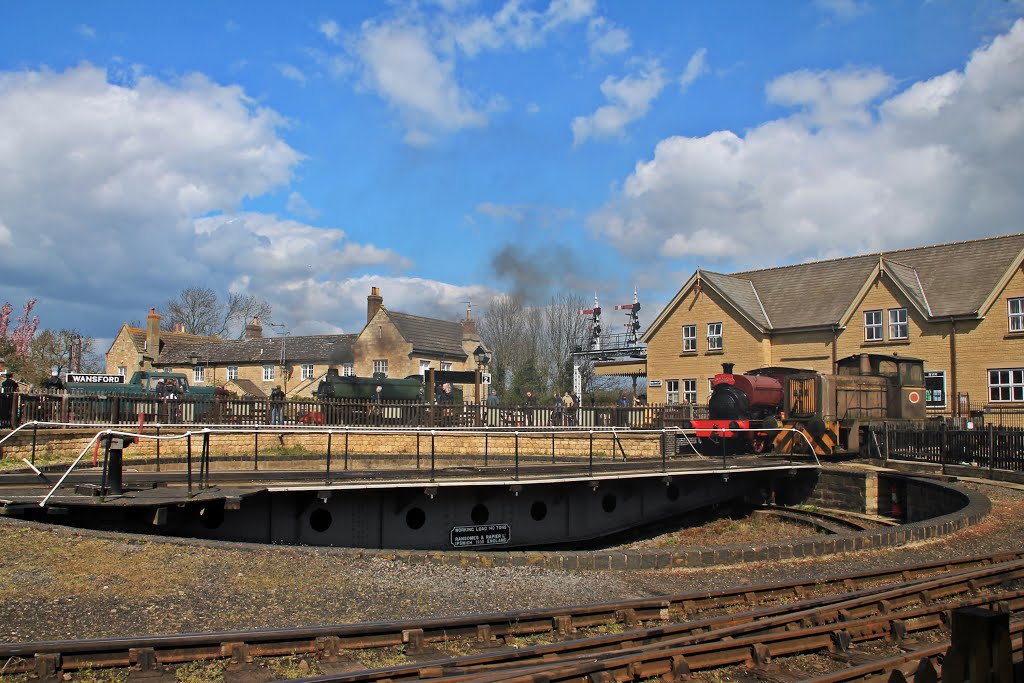
<path fill-rule="evenodd" d="M 32 421 L 108 425 L 358 425 L 370 427 L 633 427 L 666 429 L 708 417 L 707 405 L 487 405 L 366 399 L 157 398 L 6 394 L 0 428 Z"/>

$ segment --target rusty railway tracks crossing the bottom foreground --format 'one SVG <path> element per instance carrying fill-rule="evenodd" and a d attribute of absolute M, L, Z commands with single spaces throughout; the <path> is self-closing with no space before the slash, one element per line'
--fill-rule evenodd
<path fill-rule="evenodd" d="M 86 669 L 131 668 L 174 680 L 174 668 L 188 663 L 221 661 L 245 672 L 261 657 L 306 656 L 324 673 L 316 681 L 625 681 L 767 667 L 782 655 L 822 651 L 849 667 L 863 664 L 851 653 L 858 644 L 921 640 L 941 632 L 950 610 L 962 606 L 1019 618 L 1024 553 L 456 618 L 3 644 L 0 673 L 57 680 Z M 1014 625 L 1019 643 L 1020 624 Z M 531 641 L 541 642 L 522 646 Z M 370 657 L 370 670 L 359 663 L 360 655 L 388 650 L 400 650 L 404 663 L 374 668 L 387 659 Z M 460 651 L 474 653 L 453 656 Z"/>

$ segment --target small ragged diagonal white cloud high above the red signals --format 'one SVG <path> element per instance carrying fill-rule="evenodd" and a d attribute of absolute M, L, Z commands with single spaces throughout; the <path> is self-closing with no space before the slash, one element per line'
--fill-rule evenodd
<path fill-rule="evenodd" d="M 601 92 L 610 103 L 586 117 L 572 120 L 572 142 L 581 144 L 591 137 L 614 137 L 626 126 L 644 117 L 650 103 L 665 88 L 665 76 L 656 60 L 646 62 L 639 73 L 621 79 L 608 77 Z"/>

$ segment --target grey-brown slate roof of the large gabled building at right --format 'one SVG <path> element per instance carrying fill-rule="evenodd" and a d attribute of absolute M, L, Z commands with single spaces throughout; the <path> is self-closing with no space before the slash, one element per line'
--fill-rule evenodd
<path fill-rule="evenodd" d="M 697 283 L 766 331 L 845 325 L 844 317 L 879 272 L 928 317 L 978 317 L 1022 260 L 1024 234 L 1008 234 L 731 274 L 698 269 L 644 333 L 644 341 Z"/>

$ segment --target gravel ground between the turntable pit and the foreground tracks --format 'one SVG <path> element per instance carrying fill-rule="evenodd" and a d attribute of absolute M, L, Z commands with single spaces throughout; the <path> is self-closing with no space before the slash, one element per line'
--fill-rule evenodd
<path fill-rule="evenodd" d="M 211 547 L 94 536 L 0 518 L 0 641 L 132 636 L 445 616 L 715 590 L 1024 547 L 1024 487 L 962 482 L 992 514 L 938 541 L 710 569 L 556 571 L 354 561 L 330 549 Z M 731 525 L 721 543 L 763 540 Z M 700 539 L 701 531 L 693 532 Z M 745 535 L 745 536 L 744 536 Z M 676 532 L 673 543 L 691 545 Z M 664 547 L 664 546 L 662 546 Z"/>

